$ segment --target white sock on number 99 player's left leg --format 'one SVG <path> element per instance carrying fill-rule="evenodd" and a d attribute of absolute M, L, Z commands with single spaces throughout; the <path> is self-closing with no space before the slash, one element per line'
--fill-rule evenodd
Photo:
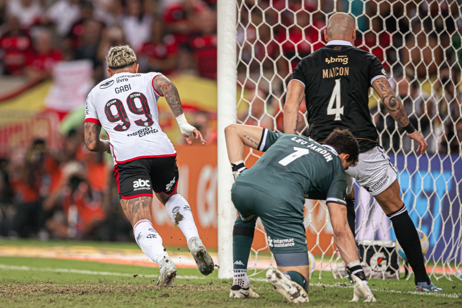
<path fill-rule="evenodd" d="M 136 243 L 141 250 L 154 262 L 160 266 L 160 260 L 168 257 L 162 245 L 162 237 L 152 227 L 152 223 L 143 219 L 138 221 L 133 227 Z"/>

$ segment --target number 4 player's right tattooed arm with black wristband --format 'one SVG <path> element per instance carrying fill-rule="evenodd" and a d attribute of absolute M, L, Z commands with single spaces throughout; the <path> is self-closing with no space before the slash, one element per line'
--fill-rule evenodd
<path fill-rule="evenodd" d="M 409 122 L 406 110 L 404 110 L 404 106 L 400 99 L 396 97 L 395 91 L 391 89 L 387 78 L 377 78 L 372 83 L 372 88 L 374 88 L 378 96 L 380 96 L 380 99 L 383 101 L 383 104 L 385 104 L 385 108 L 387 108 L 391 117 L 407 131 L 407 136 L 412 140 L 419 142 L 419 147 L 416 152 L 424 154 L 428 144 L 425 141 L 424 136 L 422 136 L 422 134 L 420 134 Z"/>

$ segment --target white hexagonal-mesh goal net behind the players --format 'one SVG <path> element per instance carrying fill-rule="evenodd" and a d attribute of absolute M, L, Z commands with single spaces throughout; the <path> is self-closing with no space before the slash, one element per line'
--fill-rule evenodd
<path fill-rule="evenodd" d="M 325 45 L 323 30 L 330 14 L 346 12 L 355 19 L 355 46 L 382 61 L 411 123 L 429 144 L 426 154 L 416 154 L 416 144 L 371 89 L 369 106 L 379 141 L 398 169 L 401 196 L 415 226 L 429 240 L 427 271 L 436 279 L 454 278 L 462 270 L 460 1 L 235 1 L 237 123 L 280 132 L 287 83 L 298 61 Z M 297 132 L 306 136 L 307 129 L 302 102 Z M 248 167 L 260 155 L 250 150 Z M 357 184 L 355 188 L 356 240 L 383 240 L 393 246 L 390 220 L 366 190 Z M 327 207 L 324 201 L 313 200 L 307 200 L 305 207 L 308 248 L 316 258 L 316 270 L 330 270 L 341 259 Z M 275 266 L 260 223 L 257 229 L 249 268 L 255 272 Z M 377 263 L 377 258 L 372 260 Z M 375 270 L 383 268 L 379 262 Z"/>

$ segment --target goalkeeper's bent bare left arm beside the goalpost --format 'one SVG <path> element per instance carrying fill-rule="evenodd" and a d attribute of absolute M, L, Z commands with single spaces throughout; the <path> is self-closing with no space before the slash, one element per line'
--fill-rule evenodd
<path fill-rule="evenodd" d="M 252 125 L 231 124 L 226 126 L 225 139 L 230 163 L 244 159 L 245 146 L 258 149 L 262 132 L 262 127 Z"/>

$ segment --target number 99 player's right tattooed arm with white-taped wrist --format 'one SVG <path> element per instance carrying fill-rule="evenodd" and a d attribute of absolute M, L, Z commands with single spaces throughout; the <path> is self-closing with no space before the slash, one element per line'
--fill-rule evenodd
<path fill-rule="evenodd" d="M 152 86 L 160 95 L 164 95 L 165 101 L 167 101 L 167 104 L 169 104 L 170 109 L 173 111 L 186 142 L 188 142 L 188 144 L 193 144 L 192 136 L 195 136 L 196 139 L 201 140 L 202 145 L 206 144 L 207 142 L 202 138 L 201 132 L 194 126 L 188 124 L 183 113 L 180 95 L 175 85 L 164 75 L 158 75 L 154 78 Z"/>

